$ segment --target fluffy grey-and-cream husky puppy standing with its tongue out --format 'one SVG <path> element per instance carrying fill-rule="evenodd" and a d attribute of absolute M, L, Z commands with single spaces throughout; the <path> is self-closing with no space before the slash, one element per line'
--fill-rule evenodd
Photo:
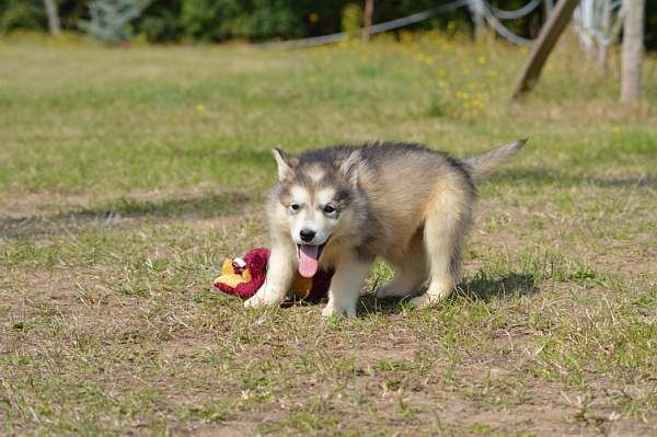
<path fill-rule="evenodd" d="M 395 277 L 377 297 L 407 297 L 428 279 L 424 307 L 459 279 L 475 182 L 516 153 L 517 140 L 457 160 L 415 143 L 337 146 L 288 157 L 274 149 L 278 183 L 267 215 L 272 254 L 265 284 L 246 307 L 275 306 L 295 272 L 334 268 L 323 315 L 356 317 L 360 288 L 377 256 Z"/>

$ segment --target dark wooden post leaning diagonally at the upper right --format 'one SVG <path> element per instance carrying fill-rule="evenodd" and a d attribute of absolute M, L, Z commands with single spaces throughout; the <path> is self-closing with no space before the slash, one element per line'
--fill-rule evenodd
<path fill-rule="evenodd" d="M 579 3 L 579 0 L 561 0 L 556 3 L 554 12 L 548 18 L 548 22 L 541 28 L 541 33 L 531 48 L 529 61 L 525 66 L 520 78 L 518 78 L 514 90 L 514 99 L 534 88 L 550 53 L 570 21 L 577 3 Z"/>

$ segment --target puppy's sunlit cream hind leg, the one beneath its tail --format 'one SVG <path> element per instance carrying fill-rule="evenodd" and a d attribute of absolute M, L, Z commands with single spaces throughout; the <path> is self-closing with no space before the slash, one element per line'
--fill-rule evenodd
<path fill-rule="evenodd" d="M 459 280 L 461 251 L 471 222 L 474 192 L 465 182 L 443 184 L 425 219 L 424 239 L 429 263 L 427 291 L 411 300 L 425 307 L 447 298 Z"/>

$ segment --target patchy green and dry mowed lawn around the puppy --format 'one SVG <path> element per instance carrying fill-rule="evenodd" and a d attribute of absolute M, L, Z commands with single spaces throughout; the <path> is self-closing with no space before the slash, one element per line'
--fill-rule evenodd
<path fill-rule="evenodd" d="M 616 103 L 568 36 L 304 50 L 0 41 L 0 434 L 657 434 L 657 59 Z M 458 292 L 245 311 L 269 149 L 529 137 L 480 186 Z M 394 205 L 391 205 L 394 208 Z"/>

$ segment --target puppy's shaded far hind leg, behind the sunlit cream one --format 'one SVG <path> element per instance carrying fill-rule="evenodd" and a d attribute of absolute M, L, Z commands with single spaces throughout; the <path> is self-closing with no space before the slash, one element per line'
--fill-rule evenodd
<path fill-rule="evenodd" d="M 377 290 L 377 298 L 405 298 L 415 291 L 428 277 L 427 255 L 423 235 L 413 238 L 408 250 L 394 265 L 394 279 Z"/>

